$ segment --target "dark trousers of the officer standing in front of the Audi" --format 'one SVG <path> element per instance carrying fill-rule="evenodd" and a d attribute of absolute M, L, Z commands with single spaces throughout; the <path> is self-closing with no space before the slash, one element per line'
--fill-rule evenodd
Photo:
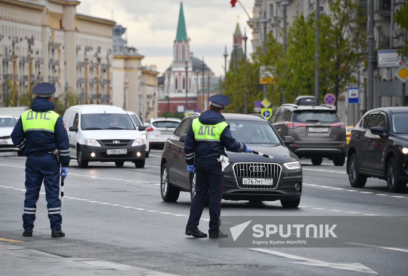
<path fill-rule="evenodd" d="M 219 217 L 221 213 L 222 186 L 224 173 L 221 164 L 216 159 L 200 160 L 195 165 L 195 196 L 191 203 L 190 217 L 186 231 L 198 229 L 201 214 L 210 191 L 210 223 L 208 234 L 218 234 L 220 228 Z"/>

